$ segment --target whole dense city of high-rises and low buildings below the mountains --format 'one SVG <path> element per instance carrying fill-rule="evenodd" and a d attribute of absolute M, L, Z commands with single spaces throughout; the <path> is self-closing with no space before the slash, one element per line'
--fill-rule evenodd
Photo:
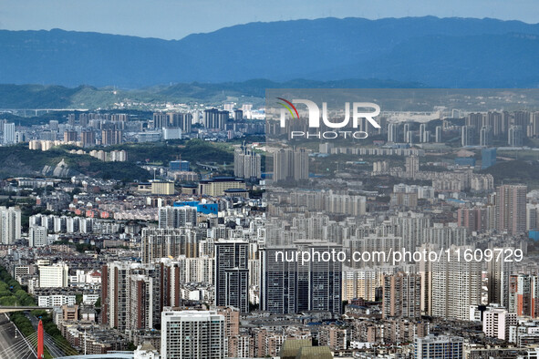
<path fill-rule="evenodd" d="M 5 120 L 1 149 L 58 162 L 0 182 L 0 299 L 50 311 L 58 355 L 532 354 L 539 183 L 504 168 L 539 111 L 494 108 L 387 111 L 355 140 L 293 141 L 302 108 L 281 128 L 246 101 Z"/>

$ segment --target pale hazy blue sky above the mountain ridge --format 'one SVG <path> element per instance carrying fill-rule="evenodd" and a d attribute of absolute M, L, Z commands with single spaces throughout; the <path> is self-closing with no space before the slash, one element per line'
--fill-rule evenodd
<path fill-rule="evenodd" d="M 494 17 L 539 23 L 537 0 L 0 0 L 0 28 L 179 39 L 254 21 L 318 17 Z"/>

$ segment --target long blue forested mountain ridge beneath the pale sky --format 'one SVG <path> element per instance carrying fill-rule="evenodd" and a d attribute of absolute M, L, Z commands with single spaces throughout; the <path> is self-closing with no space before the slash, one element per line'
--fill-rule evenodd
<path fill-rule="evenodd" d="M 378 78 L 429 87 L 537 87 L 539 25 L 472 18 L 323 18 L 181 40 L 0 30 L 0 83 L 67 87 Z"/>

